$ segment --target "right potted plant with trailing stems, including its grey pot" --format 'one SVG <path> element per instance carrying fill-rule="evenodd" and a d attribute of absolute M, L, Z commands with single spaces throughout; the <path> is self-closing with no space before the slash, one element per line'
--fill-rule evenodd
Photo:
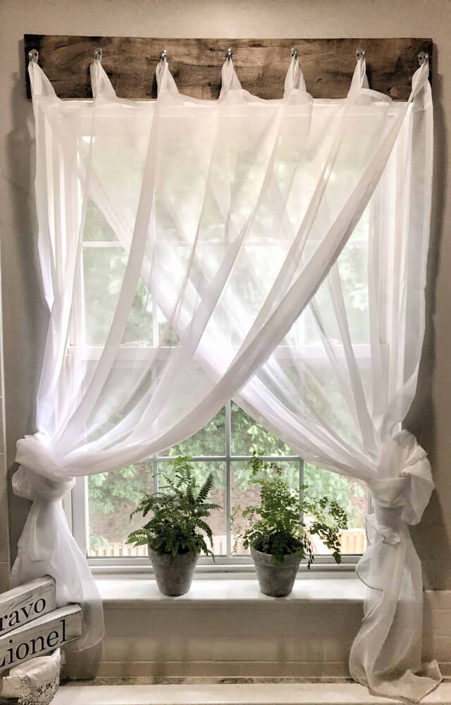
<path fill-rule="evenodd" d="M 235 551 L 238 544 L 250 548 L 261 592 L 282 597 L 292 591 L 300 561 L 307 558 L 308 568 L 314 561 L 312 534 L 341 562 L 340 533 L 347 529 L 347 516 L 327 497 L 301 500 L 274 462 L 254 454 L 247 467 L 249 482 L 260 485 L 260 504 L 233 512 L 235 526 L 239 515 L 245 520 L 244 527 L 237 526 Z"/>

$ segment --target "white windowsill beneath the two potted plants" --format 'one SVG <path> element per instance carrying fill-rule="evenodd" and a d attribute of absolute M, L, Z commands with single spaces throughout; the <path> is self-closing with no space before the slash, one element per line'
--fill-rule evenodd
<path fill-rule="evenodd" d="M 307 576 L 306 576 L 307 577 Z M 164 605 L 205 605 L 243 603 L 363 603 L 365 587 L 354 573 L 345 572 L 330 576 L 330 573 L 316 572 L 308 579 L 298 577 L 295 587 L 287 597 L 268 597 L 259 591 L 257 579 L 222 580 L 209 578 L 193 580 L 189 592 L 179 597 L 167 597 L 159 592 L 155 580 L 133 577 L 101 578 L 97 576 L 97 587 L 106 607 L 146 607 L 152 604 Z"/>

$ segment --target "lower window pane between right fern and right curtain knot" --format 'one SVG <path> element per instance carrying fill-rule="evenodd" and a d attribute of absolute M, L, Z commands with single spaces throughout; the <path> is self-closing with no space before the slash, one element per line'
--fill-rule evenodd
<path fill-rule="evenodd" d="M 348 517 L 349 529 L 342 534 L 342 553 L 363 553 L 366 548 L 365 517 L 368 492 L 364 482 L 344 477 L 336 472 L 304 464 L 304 484 L 312 497 L 328 498 L 338 502 Z M 317 537 L 313 537 L 315 553 L 330 553 Z"/>

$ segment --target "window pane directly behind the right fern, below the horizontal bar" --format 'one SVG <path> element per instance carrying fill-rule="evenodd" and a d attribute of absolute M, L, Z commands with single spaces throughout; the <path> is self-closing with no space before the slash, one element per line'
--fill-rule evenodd
<path fill-rule="evenodd" d="M 282 460 L 278 463 L 288 477 L 288 482 L 292 489 L 299 489 L 299 460 Z M 260 503 L 260 486 L 257 484 L 249 484 L 250 471 L 246 467 L 245 460 L 235 460 L 232 463 L 232 511 L 240 506 L 245 509 L 251 505 L 259 505 Z M 235 532 L 237 526 L 243 525 L 244 522 L 240 517 L 237 517 L 236 524 L 232 527 L 232 552 L 237 555 L 249 553 L 242 546 L 238 545 L 234 550 Z"/>

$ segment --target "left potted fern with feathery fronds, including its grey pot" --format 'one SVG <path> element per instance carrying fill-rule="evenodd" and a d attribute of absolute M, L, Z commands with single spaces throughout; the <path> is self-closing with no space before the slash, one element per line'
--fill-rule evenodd
<path fill-rule="evenodd" d="M 144 494 L 130 514 L 141 513 L 152 518 L 141 529 L 131 532 L 128 544 L 149 548 L 149 558 L 156 584 L 163 595 L 183 595 L 191 587 L 199 553 L 213 556 L 206 544 L 212 544 L 213 534 L 205 522 L 211 510 L 220 509 L 208 501 L 213 487 L 213 473 L 200 489 L 190 465 L 190 456 L 173 460 L 173 477 L 163 474 L 166 485 L 155 494 Z"/>

